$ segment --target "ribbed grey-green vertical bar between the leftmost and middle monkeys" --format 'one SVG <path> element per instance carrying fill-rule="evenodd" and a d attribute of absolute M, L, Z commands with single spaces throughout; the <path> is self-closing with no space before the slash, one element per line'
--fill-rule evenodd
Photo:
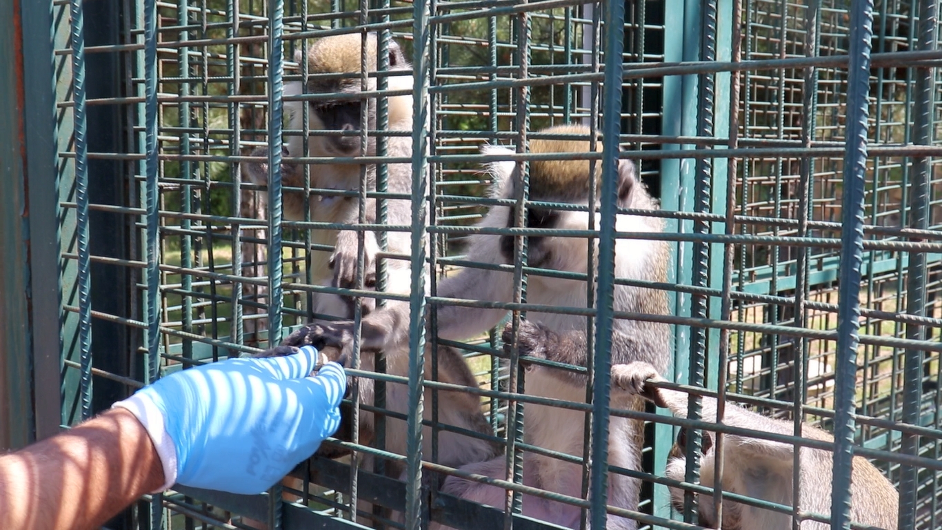
<path fill-rule="evenodd" d="M 428 187 L 429 142 L 429 73 L 430 37 L 429 5 L 415 2 L 413 10 L 413 189 L 412 189 L 412 255 L 410 257 L 412 294 L 409 297 L 409 418 L 406 447 L 413 448 L 406 456 L 406 528 L 417 530 L 422 525 L 422 418 L 423 379 L 425 374 L 425 238 Z"/>

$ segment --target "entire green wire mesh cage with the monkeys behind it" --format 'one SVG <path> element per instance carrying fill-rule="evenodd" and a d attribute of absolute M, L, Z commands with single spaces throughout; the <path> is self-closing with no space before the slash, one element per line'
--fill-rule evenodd
<path fill-rule="evenodd" d="M 347 421 L 283 484 L 174 489 L 124 526 L 896 527 L 864 505 L 938 525 L 937 3 L 53 9 L 64 424 L 303 324 L 408 303 L 398 355 L 355 334 Z M 588 128 L 546 130 L 560 124 Z M 628 160 L 659 209 L 623 202 Z M 580 168 L 586 190 L 547 194 L 546 167 Z M 663 275 L 626 265 L 653 241 Z M 471 272 L 482 283 L 455 279 Z M 526 322 L 576 333 L 581 365 L 529 358 Z M 643 358 L 620 337 L 651 335 L 686 420 L 616 399 L 613 365 Z M 688 409 L 688 393 L 707 397 Z M 778 489 L 737 480 L 750 443 L 788 448 L 756 468 Z M 898 507 L 852 489 L 852 455 Z M 534 480 L 533 462 L 558 476 Z"/>

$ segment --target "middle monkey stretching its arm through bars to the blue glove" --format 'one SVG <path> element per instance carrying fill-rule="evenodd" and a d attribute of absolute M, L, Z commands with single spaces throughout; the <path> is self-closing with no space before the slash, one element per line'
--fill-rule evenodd
<path fill-rule="evenodd" d="M 534 135 L 529 141 L 529 153 L 586 153 L 590 151 L 590 129 L 582 125 L 557 125 Z M 539 137 L 565 137 L 564 140 L 540 139 Z M 576 137 L 573 139 L 572 137 Z M 596 150 L 601 142 L 596 143 Z M 506 156 L 512 151 L 500 146 L 488 146 L 486 155 Z M 515 196 L 521 185 L 517 165 L 511 161 L 499 161 L 489 166 L 495 179 L 494 195 L 502 199 Z M 598 218 L 596 204 L 588 204 L 590 193 L 590 161 L 583 160 L 537 160 L 529 163 L 529 199 L 547 203 L 568 203 L 586 207 L 587 211 L 571 211 L 561 208 L 533 206 L 527 208 L 529 228 L 557 228 L 585 230 L 591 215 Z M 598 181 L 601 171 L 596 172 Z M 639 180 L 634 164 L 627 159 L 618 160 L 617 204 L 622 208 L 655 210 L 657 202 L 648 194 Z M 491 207 L 479 226 L 501 228 L 515 225 L 514 207 L 496 205 Z M 660 232 L 663 223 L 654 216 L 618 214 L 616 229 L 622 232 Z M 569 273 L 593 274 L 589 270 L 589 245 L 597 240 L 587 238 L 565 238 L 556 236 L 530 236 L 528 238 L 528 266 Z M 615 273 L 619 277 L 666 282 L 669 249 L 667 243 L 657 240 L 627 240 L 615 242 Z M 506 265 L 514 262 L 513 237 L 476 233 L 468 243 L 467 261 L 490 265 Z M 513 275 L 505 269 L 465 267 L 459 273 L 443 278 L 437 296 L 445 298 L 475 298 L 485 302 L 510 302 L 513 292 Z M 588 286 L 585 280 L 549 277 L 531 273 L 528 275 L 527 302 L 541 306 L 586 306 Z M 667 294 L 663 290 L 641 288 L 619 283 L 614 287 L 616 311 L 632 311 L 654 315 L 668 313 Z M 495 307 L 440 306 L 437 308 L 438 337 L 461 340 L 477 336 L 497 323 L 507 310 Z M 387 356 L 392 352 L 405 352 L 403 345 L 409 337 L 410 317 L 408 306 L 387 306 L 367 315 L 363 320 L 361 348 L 383 350 Z M 580 367 L 587 364 L 590 352 L 587 349 L 585 317 L 553 312 L 529 310 L 527 320 L 520 322 L 514 338 L 512 327 L 504 329 L 503 339 L 512 343 L 515 339 L 524 353 L 527 344 L 540 345 L 544 356 L 564 356 L 564 362 Z M 550 331 L 554 330 L 554 331 Z M 312 323 L 293 333 L 286 343 L 294 346 L 337 347 L 349 356 L 352 345 L 353 323 Z M 431 332 L 432 330 L 430 330 Z M 670 361 L 670 333 L 666 323 L 629 321 L 618 319 L 612 326 L 610 356 L 614 363 L 643 360 L 660 370 Z M 531 348 L 527 355 L 537 356 L 540 348 Z M 525 378 L 526 393 L 567 401 L 584 402 L 586 376 L 531 363 Z M 640 409 L 640 398 L 627 399 L 626 407 Z M 528 444 L 568 455 L 583 455 L 582 429 L 574 425 L 584 424 L 585 415 L 570 409 L 551 406 L 528 405 L 524 436 Z M 611 465 L 638 470 L 641 466 L 642 422 L 624 418 L 611 418 L 609 424 L 609 462 Z M 525 453 L 524 484 L 541 489 L 581 497 L 582 474 L 577 464 L 535 453 Z M 463 471 L 475 472 L 494 478 L 505 478 L 505 457 L 464 466 Z M 484 505 L 503 506 L 506 490 L 472 482 L 457 476 L 448 476 L 443 492 Z M 611 505 L 634 509 L 638 505 L 640 482 L 621 474 L 609 476 L 609 502 Z M 557 502 L 524 497 L 523 513 L 529 517 L 554 522 L 561 526 L 576 528 L 579 525 L 580 508 Z M 637 522 L 609 517 L 609 528 L 634 529 Z"/>

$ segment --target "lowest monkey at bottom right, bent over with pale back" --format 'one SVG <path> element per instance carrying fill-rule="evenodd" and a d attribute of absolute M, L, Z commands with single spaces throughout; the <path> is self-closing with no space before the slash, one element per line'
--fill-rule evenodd
<path fill-rule="evenodd" d="M 686 392 L 655 388 L 645 381 L 665 381 L 653 366 L 644 362 L 612 365 L 611 388 L 613 393 L 640 395 L 656 405 L 668 408 L 674 416 L 685 418 L 688 411 Z M 716 422 L 717 401 L 703 396 L 701 417 L 704 422 Z M 748 428 L 758 432 L 776 433 L 791 436 L 794 424 L 786 420 L 774 420 L 740 406 L 727 404 L 723 413 L 723 425 Z M 686 429 L 680 429 L 677 441 L 668 457 L 665 474 L 668 478 L 684 481 L 686 472 Z M 802 425 L 802 436 L 833 442 L 831 434 L 813 427 Z M 700 460 L 700 483 L 712 487 L 716 481 L 714 462 L 716 446 L 714 433 L 704 431 L 703 455 Z M 742 435 L 727 434 L 723 443 L 723 491 L 749 497 L 764 499 L 783 505 L 791 505 L 792 478 L 794 476 L 795 447 L 788 443 L 769 439 L 755 439 Z M 831 511 L 831 477 L 833 454 L 823 449 L 800 448 L 801 465 L 801 509 L 820 514 Z M 674 508 L 683 509 L 684 491 L 671 488 L 671 503 Z M 716 528 L 716 512 L 712 498 L 708 494 L 695 493 L 698 505 L 699 524 Z M 897 528 L 899 512 L 899 493 L 867 458 L 853 457 L 851 475 L 851 519 L 863 525 L 885 530 Z M 802 530 L 824 530 L 830 524 L 816 521 L 803 521 Z M 762 528 L 765 530 L 788 530 L 791 528 L 791 516 L 787 513 L 771 511 L 751 505 L 744 505 L 728 498 L 723 498 L 723 530 L 746 530 Z"/>

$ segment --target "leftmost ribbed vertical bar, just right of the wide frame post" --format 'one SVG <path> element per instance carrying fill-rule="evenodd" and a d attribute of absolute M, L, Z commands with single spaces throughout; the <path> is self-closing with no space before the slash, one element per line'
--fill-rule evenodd
<path fill-rule="evenodd" d="M 78 320 L 82 419 L 91 417 L 91 267 L 89 255 L 89 157 L 85 107 L 85 21 L 81 0 L 71 1 L 73 138 L 78 240 Z"/>

